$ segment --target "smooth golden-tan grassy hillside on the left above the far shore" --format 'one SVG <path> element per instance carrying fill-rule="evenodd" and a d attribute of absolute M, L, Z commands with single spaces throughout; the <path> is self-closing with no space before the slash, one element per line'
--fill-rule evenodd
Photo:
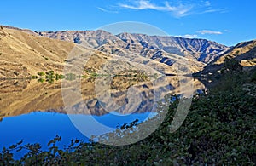
<path fill-rule="evenodd" d="M 61 72 L 74 43 L 0 28 L 0 77 L 29 77 L 40 71 Z"/>

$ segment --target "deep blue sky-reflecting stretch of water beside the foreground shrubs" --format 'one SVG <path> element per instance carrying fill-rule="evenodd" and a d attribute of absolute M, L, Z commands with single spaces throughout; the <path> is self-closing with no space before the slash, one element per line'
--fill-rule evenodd
<path fill-rule="evenodd" d="M 127 122 L 136 119 L 144 121 L 151 117 L 149 112 L 141 114 L 130 114 L 127 116 L 119 116 L 118 113 L 109 113 L 101 117 L 94 116 L 96 121 L 105 124 L 108 127 L 116 128 Z M 73 115 L 84 121 L 84 128 L 91 130 L 91 134 L 104 134 L 104 131 L 96 131 L 90 123 L 89 116 Z M 87 122 L 87 123 L 86 123 Z M 32 112 L 17 117 L 6 117 L 0 123 L 0 148 L 3 146 L 11 146 L 13 143 L 24 140 L 24 143 L 40 142 L 43 148 L 47 147 L 49 140 L 55 135 L 61 135 L 62 141 L 60 145 L 68 145 L 72 139 L 89 140 L 76 129 L 66 114 L 49 113 L 49 112 Z"/>

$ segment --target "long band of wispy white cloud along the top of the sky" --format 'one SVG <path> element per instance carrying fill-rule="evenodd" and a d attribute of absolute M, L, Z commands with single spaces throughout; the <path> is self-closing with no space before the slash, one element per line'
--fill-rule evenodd
<path fill-rule="evenodd" d="M 226 9 L 216 9 L 210 0 L 179 0 L 173 1 L 154 1 L 153 0 L 125 0 L 122 3 L 117 3 L 111 8 L 98 7 L 106 13 L 119 13 L 120 9 L 146 10 L 153 9 L 161 12 L 170 12 L 174 17 L 181 18 L 191 14 L 207 14 L 207 13 L 224 13 Z M 161 3 L 160 3 L 161 2 Z"/>

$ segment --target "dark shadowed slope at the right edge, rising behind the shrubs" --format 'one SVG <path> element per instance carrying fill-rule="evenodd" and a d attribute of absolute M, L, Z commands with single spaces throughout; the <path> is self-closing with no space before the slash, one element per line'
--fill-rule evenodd
<path fill-rule="evenodd" d="M 256 40 L 238 43 L 235 47 L 221 54 L 215 60 L 212 60 L 200 73 L 217 72 L 224 66 L 226 57 L 241 61 L 240 64 L 244 68 L 256 66 Z"/>

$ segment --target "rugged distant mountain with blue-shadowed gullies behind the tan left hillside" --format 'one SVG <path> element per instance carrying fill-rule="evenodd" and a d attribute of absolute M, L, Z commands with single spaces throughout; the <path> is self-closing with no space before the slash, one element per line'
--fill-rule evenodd
<path fill-rule="evenodd" d="M 186 74 L 198 72 L 206 63 L 230 49 L 222 44 L 205 39 L 183 37 L 159 37 L 144 34 L 121 33 L 113 35 L 108 31 L 42 31 L 38 35 L 98 49 L 108 54 L 130 56 L 135 60 L 137 55 L 163 64 L 158 71 L 164 73 L 179 72 Z M 132 55 L 137 54 L 136 57 Z M 138 61 L 137 61 L 138 62 Z M 143 63 L 147 60 L 143 60 Z M 148 63 L 147 63 L 148 65 Z M 175 70 L 170 70 L 170 67 Z M 185 69 L 184 67 L 188 67 Z"/>

